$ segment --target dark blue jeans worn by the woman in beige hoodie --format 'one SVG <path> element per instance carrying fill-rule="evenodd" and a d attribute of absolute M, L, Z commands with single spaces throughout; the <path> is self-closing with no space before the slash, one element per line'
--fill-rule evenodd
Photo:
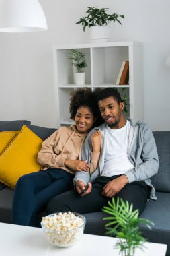
<path fill-rule="evenodd" d="M 12 223 L 37 226 L 37 214 L 55 195 L 73 189 L 74 175 L 49 168 L 19 178 L 15 187 Z"/>

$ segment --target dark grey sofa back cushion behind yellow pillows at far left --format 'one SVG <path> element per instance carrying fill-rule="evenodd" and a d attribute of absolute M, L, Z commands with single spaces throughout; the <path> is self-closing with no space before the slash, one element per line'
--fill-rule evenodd
<path fill-rule="evenodd" d="M 0 121 L 0 131 L 19 131 L 23 125 L 30 125 L 27 120 Z"/>

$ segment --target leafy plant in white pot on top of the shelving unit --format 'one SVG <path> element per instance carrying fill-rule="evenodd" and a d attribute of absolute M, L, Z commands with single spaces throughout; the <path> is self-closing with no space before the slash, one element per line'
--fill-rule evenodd
<path fill-rule="evenodd" d="M 108 8 L 99 9 L 97 6 L 88 7 L 86 16 L 80 18 L 79 22 L 76 24 L 82 24 L 83 31 L 85 28 L 90 28 L 90 39 L 91 42 L 108 42 L 110 38 L 110 30 L 108 24 L 113 22 L 120 22 L 120 18 L 124 19 L 124 15 L 119 15 L 118 13 L 108 14 L 106 11 Z"/>

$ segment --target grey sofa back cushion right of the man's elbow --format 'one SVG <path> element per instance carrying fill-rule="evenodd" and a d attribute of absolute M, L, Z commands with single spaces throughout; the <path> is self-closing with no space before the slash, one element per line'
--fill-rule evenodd
<path fill-rule="evenodd" d="M 151 178 L 156 191 L 170 192 L 170 131 L 153 131 L 159 156 L 159 170 Z"/>

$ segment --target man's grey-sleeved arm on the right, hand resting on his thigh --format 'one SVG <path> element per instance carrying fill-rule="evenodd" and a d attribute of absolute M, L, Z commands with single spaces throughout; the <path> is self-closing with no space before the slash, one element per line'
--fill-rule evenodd
<path fill-rule="evenodd" d="M 137 164 L 134 169 L 128 170 L 125 174 L 108 182 L 103 187 L 102 195 L 114 197 L 127 183 L 144 181 L 157 174 L 159 159 L 153 133 L 147 125 L 144 125 L 140 135 L 142 137 L 142 146 L 136 147 L 138 151 L 134 154 L 136 155 L 136 160 L 142 158 L 141 163 Z"/>

